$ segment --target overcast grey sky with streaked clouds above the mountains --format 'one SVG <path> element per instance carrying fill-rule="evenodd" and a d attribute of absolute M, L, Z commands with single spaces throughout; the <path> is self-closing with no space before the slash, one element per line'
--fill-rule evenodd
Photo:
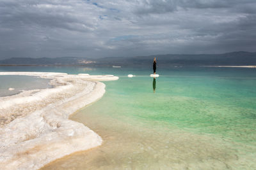
<path fill-rule="evenodd" d="M 255 52 L 255 0 L 0 0 L 0 59 Z"/>

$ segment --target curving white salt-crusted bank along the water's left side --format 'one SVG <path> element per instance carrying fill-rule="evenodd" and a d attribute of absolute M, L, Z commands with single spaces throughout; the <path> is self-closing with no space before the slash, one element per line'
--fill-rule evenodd
<path fill-rule="evenodd" d="M 39 169 L 70 153 L 101 145 L 100 136 L 68 117 L 103 96 L 105 85 L 99 81 L 118 77 L 38 72 L 0 75 L 51 78 L 54 85 L 0 97 L 0 169 Z"/>

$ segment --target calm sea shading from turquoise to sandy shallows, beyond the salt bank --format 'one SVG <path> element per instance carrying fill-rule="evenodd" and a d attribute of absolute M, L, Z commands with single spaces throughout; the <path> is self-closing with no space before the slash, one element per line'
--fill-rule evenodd
<path fill-rule="evenodd" d="M 0 71 L 115 74 L 72 120 L 104 143 L 45 169 L 256 169 L 256 69 L 0 67 Z M 127 74 L 136 75 L 128 78 Z"/>

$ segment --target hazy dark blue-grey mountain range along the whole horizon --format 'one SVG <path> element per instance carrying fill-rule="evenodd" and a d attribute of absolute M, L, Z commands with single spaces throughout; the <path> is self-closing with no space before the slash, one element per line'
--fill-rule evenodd
<path fill-rule="evenodd" d="M 10 58 L 0 60 L 1 66 L 148 66 L 154 57 L 161 66 L 250 66 L 256 65 L 256 52 L 221 54 L 166 54 L 136 57 L 106 57 L 86 59 L 79 57 Z"/>

